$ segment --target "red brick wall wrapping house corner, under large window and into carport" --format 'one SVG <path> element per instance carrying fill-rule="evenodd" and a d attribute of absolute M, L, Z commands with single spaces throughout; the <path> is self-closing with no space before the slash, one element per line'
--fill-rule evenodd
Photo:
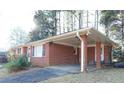
<path fill-rule="evenodd" d="M 44 57 L 31 57 L 33 66 L 48 66 L 59 64 L 78 64 L 78 55 L 74 55 L 74 48 L 70 46 L 46 43 Z"/>

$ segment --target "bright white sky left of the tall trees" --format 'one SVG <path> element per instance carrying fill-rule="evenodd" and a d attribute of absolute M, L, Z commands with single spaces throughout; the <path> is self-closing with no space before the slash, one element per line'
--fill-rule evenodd
<path fill-rule="evenodd" d="M 0 10 L 0 49 L 9 48 L 9 36 L 12 29 L 20 27 L 29 32 L 34 26 L 33 11 Z"/>

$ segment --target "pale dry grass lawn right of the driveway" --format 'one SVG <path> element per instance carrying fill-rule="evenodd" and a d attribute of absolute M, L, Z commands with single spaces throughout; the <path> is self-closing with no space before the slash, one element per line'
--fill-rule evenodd
<path fill-rule="evenodd" d="M 124 68 L 105 68 L 94 72 L 69 74 L 41 81 L 45 83 L 124 83 Z"/>

